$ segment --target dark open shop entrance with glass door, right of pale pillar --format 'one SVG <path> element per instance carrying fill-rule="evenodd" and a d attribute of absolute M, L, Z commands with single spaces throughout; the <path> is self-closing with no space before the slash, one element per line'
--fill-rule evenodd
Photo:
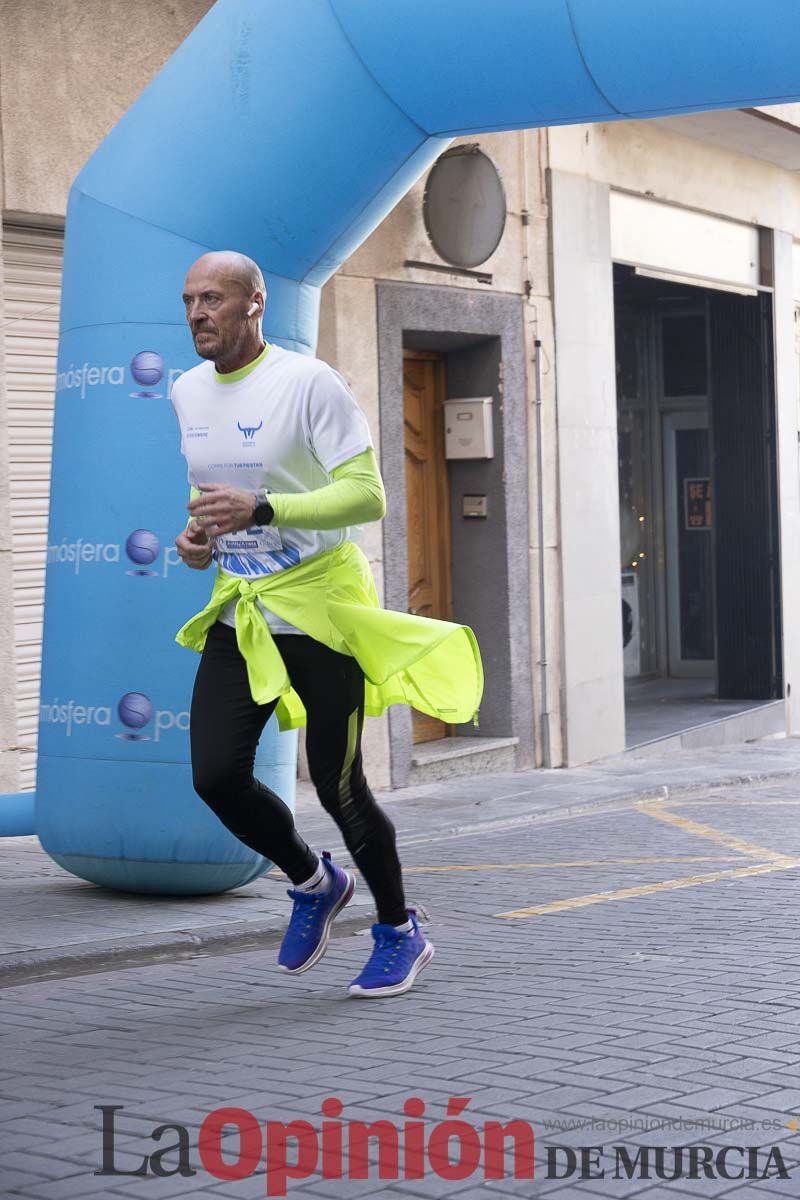
<path fill-rule="evenodd" d="M 630 745 L 781 696 L 771 296 L 614 288 Z"/>

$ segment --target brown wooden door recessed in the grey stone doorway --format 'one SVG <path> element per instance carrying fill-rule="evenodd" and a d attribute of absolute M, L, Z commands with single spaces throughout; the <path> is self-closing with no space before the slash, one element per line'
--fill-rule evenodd
<path fill-rule="evenodd" d="M 405 497 L 408 512 L 408 611 L 452 620 L 450 490 L 444 449 L 445 364 L 440 354 L 403 355 Z M 413 714 L 413 740 L 433 742 L 452 725 Z"/>

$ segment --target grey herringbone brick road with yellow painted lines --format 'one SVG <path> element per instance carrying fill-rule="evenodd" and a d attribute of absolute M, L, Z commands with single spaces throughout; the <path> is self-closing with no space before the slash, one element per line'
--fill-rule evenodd
<path fill-rule="evenodd" d="M 366 931 L 336 938 L 297 979 L 266 949 L 6 989 L 2 1195 L 251 1200 L 265 1194 L 260 1168 L 228 1182 L 200 1168 L 205 1115 L 235 1105 L 319 1129 L 331 1096 L 344 1121 L 397 1122 L 420 1097 L 428 1134 L 451 1096 L 471 1097 L 465 1116 L 480 1130 L 534 1126 L 536 1178 L 380 1181 L 373 1163 L 367 1180 L 317 1175 L 289 1195 L 800 1195 L 798 792 L 789 780 L 455 836 L 440 823 L 427 840 L 419 809 L 397 805 L 409 896 L 429 913 L 437 956 L 395 1000 L 345 994 Z M 94 1175 L 101 1104 L 122 1105 L 118 1169 L 160 1148 L 156 1126 L 179 1122 L 198 1174 Z M 651 1127 L 625 1132 L 625 1121 Z M 776 1145 L 792 1177 L 548 1180 L 548 1142 L 604 1146 L 612 1175 L 616 1144 L 631 1154 L 638 1144 Z M 236 1144 L 225 1136 L 231 1160 Z M 167 1154 L 166 1169 L 176 1162 Z M 728 1159 L 732 1174 L 740 1162 Z"/>

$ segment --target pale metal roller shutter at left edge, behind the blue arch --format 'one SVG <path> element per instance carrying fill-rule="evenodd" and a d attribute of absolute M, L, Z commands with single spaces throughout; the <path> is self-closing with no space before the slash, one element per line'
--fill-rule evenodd
<path fill-rule="evenodd" d="M 4 337 L 8 406 L 12 588 L 19 786 L 36 786 L 53 401 L 64 234 L 4 224 Z"/>

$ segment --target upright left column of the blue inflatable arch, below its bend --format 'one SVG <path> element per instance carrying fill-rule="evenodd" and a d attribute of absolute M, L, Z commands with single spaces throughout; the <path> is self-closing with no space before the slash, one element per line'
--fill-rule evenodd
<path fill-rule="evenodd" d="M 80 194 L 68 228 L 36 828 L 58 863 L 95 883 L 219 892 L 270 864 L 194 792 L 199 658 L 174 642 L 212 582 L 174 546 L 188 485 L 168 392 L 196 361 L 180 292 L 198 247 Z M 76 322 L 71 298 L 95 289 L 96 311 L 82 302 Z M 128 319 L 97 319 L 120 308 Z M 179 319 L 158 319 L 164 308 Z M 290 808 L 296 738 L 270 721 L 255 768 Z"/>

